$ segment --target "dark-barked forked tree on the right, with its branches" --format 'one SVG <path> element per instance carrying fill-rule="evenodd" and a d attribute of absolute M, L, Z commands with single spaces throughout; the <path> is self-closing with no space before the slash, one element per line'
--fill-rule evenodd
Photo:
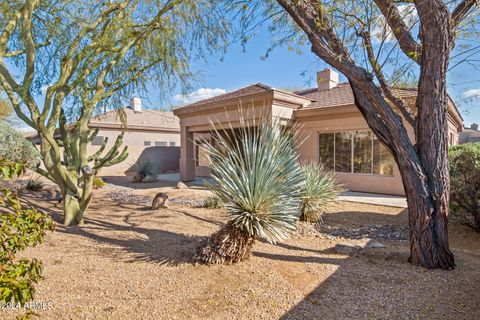
<path fill-rule="evenodd" d="M 459 35 L 476 32 L 477 1 L 265 0 L 241 6 L 247 13 L 243 26 L 273 20 L 272 33 L 281 35 L 274 45 L 308 40 L 315 55 L 347 77 L 360 112 L 400 169 L 409 207 L 409 261 L 454 268 L 447 232 L 446 75 L 449 61 L 462 57 L 452 54 Z M 395 90 L 404 80 L 399 75 L 406 74 L 417 84 L 413 104 Z"/>

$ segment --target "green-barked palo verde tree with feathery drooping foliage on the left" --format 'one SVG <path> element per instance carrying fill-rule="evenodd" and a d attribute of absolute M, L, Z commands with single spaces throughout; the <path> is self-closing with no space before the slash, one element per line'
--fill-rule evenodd
<path fill-rule="evenodd" d="M 195 58 L 188 50 L 196 48 L 198 57 L 221 39 L 221 17 L 215 19 L 209 3 L 2 1 L 0 84 L 18 117 L 41 138 L 46 170 L 39 172 L 61 189 L 65 225 L 83 222 L 96 172 L 127 156 L 123 134 L 109 151 L 104 143 L 87 154 L 96 135 L 88 128 L 90 118 L 149 81 L 164 92 L 186 85 L 188 62 Z"/>

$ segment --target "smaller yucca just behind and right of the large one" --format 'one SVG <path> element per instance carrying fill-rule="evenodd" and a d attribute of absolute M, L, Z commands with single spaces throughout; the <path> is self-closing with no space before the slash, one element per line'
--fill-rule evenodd
<path fill-rule="evenodd" d="M 335 174 L 317 163 L 302 165 L 305 183 L 301 188 L 301 221 L 323 222 L 322 214 L 342 191 Z"/>

